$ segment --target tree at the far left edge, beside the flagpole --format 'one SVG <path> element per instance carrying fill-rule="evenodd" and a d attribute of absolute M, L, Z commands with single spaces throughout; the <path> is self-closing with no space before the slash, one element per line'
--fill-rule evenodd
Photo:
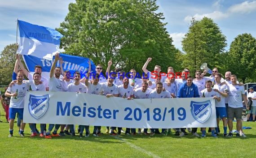
<path fill-rule="evenodd" d="M 12 81 L 13 68 L 16 61 L 16 43 L 4 47 L 0 58 L 0 85 L 9 85 Z"/>

